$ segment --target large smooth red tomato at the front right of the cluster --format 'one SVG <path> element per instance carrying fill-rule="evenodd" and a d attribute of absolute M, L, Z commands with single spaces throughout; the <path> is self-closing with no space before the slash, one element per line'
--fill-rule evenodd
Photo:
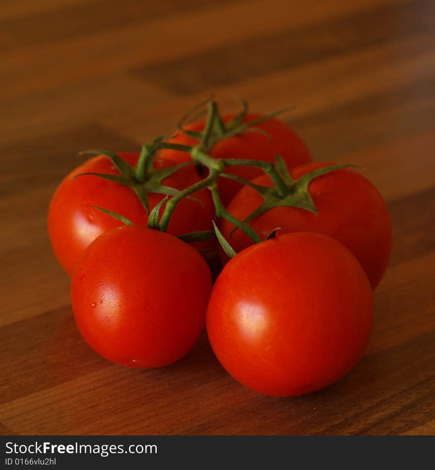
<path fill-rule="evenodd" d="M 354 256 L 325 235 L 258 243 L 223 268 L 207 332 L 226 371 L 272 396 L 296 396 L 344 376 L 373 323 L 370 283 Z"/>

